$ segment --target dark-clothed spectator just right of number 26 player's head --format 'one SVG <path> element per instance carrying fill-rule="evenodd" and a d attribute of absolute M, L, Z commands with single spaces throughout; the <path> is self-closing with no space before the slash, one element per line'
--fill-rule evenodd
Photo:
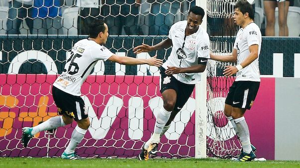
<path fill-rule="evenodd" d="M 138 35 L 138 14 L 141 0 L 103 0 L 101 15 L 110 28 L 110 35 Z"/>

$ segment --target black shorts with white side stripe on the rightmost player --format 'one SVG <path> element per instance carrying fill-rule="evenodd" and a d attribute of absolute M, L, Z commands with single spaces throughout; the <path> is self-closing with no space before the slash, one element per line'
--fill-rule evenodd
<path fill-rule="evenodd" d="M 235 81 L 229 88 L 225 104 L 235 108 L 248 109 L 254 103 L 260 82 Z"/>

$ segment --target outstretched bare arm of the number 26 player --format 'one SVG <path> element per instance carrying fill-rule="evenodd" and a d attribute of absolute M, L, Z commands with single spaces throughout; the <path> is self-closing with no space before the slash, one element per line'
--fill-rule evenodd
<path fill-rule="evenodd" d="M 163 60 L 158 59 L 156 57 L 157 55 L 150 57 L 148 59 L 144 59 L 144 58 L 133 58 L 129 56 L 112 55 L 108 58 L 108 60 L 113 62 L 118 62 L 119 64 L 125 64 L 125 65 L 148 64 L 148 65 L 160 67 L 163 64 Z"/>

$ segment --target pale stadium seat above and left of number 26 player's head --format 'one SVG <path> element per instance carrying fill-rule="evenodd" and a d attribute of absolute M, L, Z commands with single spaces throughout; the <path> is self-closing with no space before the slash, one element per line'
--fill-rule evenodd
<path fill-rule="evenodd" d="M 79 7 L 67 7 L 62 10 L 62 25 L 64 35 L 77 35 L 77 19 Z"/>

